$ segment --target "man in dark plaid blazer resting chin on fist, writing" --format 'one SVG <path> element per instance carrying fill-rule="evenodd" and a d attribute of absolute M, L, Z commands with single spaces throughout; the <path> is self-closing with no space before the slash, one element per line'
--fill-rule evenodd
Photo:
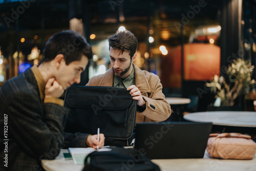
<path fill-rule="evenodd" d="M 59 97 L 92 58 L 86 40 L 73 31 L 54 34 L 39 67 L 7 80 L 0 89 L 0 170 L 44 170 L 41 159 L 54 159 L 63 144 L 68 110 Z M 75 134 L 70 135 L 71 140 Z M 102 147 L 104 136 L 84 137 L 87 146 Z M 70 143 L 70 142 L 66 142 Z M 4 145 L 3 145 L 4 144 Z"/>

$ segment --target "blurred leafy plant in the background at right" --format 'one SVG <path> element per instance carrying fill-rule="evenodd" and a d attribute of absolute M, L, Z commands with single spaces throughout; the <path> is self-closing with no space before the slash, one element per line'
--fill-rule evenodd
<path fill-rule="evenodd" d="M 254 66 L 249 60 L 238 58 L 226 68 L 226 76 L 214 76 L 207 87 L 216 94 L 216 99 L 221 106 L 233 106 L 238 97 L 244 99 L 245 95 L 251 92 L 254 79 L 251 79 Z M 244 105 L 244 104 L 242 104 Z"/>

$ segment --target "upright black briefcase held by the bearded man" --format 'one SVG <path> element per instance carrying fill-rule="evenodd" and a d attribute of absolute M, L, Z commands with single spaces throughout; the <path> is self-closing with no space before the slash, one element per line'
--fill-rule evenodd
<path fill-rule="evenodd" d="M 64 101 L 70 110 L 65 132 L 97 134 L 99 127 L 106 139 L 127 140 L 133 135 L 137 101 L 125 88 L 72 86 Z"/>

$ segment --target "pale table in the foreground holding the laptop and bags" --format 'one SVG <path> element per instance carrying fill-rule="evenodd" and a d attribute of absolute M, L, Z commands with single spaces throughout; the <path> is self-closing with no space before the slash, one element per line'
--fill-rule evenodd
<path fill-rule="evenodd" d="M 74 164 L 73 160 L 65 160 L 63 153 L 68 153 L 67 149 L 61 149 L 55 160 L 42 160 L 41 164 L 47 171 L 77 171 L 82 170 L 83 165 Z M 154 159 L 161 171 L 182 170 L 182 171 L 241 171 L 256 170 L 256 156 L 252 160 L 221 160 L 211 159 L 205 152 L 202 159 Z"/>

